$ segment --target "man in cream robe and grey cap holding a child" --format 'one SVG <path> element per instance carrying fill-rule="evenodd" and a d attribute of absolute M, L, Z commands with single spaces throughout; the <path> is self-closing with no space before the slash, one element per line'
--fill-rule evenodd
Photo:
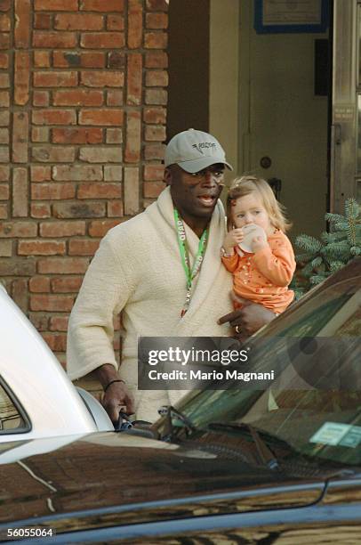
<path fill-rule="evenodd" d="M 184 394 L 137 389 L 140 336 L 221 337 L 234 332 L 227 321 L 237 327 L 244 321 L 239 311 L 229 313 L 231 276 L 220 258 L 225 219 L 218 198 L 224 169 L 231 169 L 221 144 L 194 129 L 176 134 L 164 166 L 168 187 L 101 241 L 69 320 L 68 374 L 76 379 L 96 370 L 114 422 L 120 410 L 155 420 L 161 405 Z M 124 327 L 119 371 L 112 345 L 117 313 Z"/>

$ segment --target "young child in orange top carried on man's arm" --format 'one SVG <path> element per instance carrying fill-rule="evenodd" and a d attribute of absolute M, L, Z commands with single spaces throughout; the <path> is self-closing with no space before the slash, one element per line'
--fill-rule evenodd
<path fill-rule="evenodd" d="M 227 198 L 228 233 L 223 242 L 221 260 L 233 273 L 237 296 L 244 297 L 283 313 L 293 301 L 288 289 L 296 268 L 293 248 L 285 231 L 291 227 L 269 183 L 253 175 L 237 178 Z M 252 253 L 238 247 L 245 238 L 243 228 L 256 224 L 264 229 L 267 240 L 254 236 Z M 236 305 L 239 307 L 239 305 Z"/>

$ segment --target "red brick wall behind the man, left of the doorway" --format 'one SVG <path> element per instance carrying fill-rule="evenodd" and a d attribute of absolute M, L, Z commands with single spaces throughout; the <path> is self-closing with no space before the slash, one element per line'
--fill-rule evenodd
<path fill-rule="evenodd" d="M 163 189 L 166 0 L 0 0 L 0 278 L 64 362 L 100 238 Z"/>

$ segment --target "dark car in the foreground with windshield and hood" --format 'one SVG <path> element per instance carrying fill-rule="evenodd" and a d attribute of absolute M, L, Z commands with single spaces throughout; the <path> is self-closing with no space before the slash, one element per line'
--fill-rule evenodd
<path fill-rule="evenodd" d="M 192 392 L 150 429 L 0 445 L 0 539 L 361 542 L 360 303 L 357 259 L 261 331 L 254 369 L 283 369 L 265 390 Z"/>

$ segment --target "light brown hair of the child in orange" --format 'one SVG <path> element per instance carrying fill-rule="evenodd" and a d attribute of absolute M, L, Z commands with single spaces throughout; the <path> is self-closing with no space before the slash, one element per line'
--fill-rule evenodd
<path fill-rule="evenodd" d="M 285 207 L 277 201 L 269 183 L 254 175 L 245 175 L 233 180 L 229 187 L 229 194 L 227 196 L 227 229 L 229 231 L 233 225 L 232 207 L 235 205 L 235 201 L 251 193 L 259 194 L 263 206 L 269 215 L 270 222 L 274 227 L 283 232 L 292 227 L 292 224 L 285 217 Z"/>

